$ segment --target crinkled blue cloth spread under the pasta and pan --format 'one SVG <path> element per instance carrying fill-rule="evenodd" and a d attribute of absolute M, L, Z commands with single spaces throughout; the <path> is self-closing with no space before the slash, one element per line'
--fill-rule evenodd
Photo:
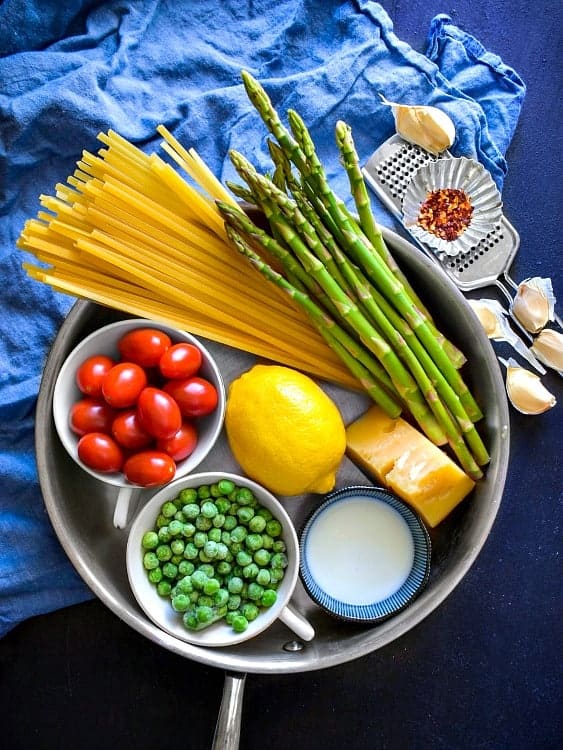
<path fill-rule="evenodd" d="M 438 104 L 454 152 L 479 159 L 499 188 L 525 87 L 446 16 L 426 54 L 401 42 L 374 2 L 336 0 L 4 0 L 0 5 L 0 635 L 92 596 L 56 539 L 34 458 L 34 409 L 48 349 L 73 300 L 30 280 L 15 243 L 38 196 L 53 194 L 82 149 L 113 128 L 156 150 L 164 123 L 221 178 L 226 154 L 269 168 L 265 130 L 240 83 L 248 69 L 279 111 L 310 126 L 337 192 L 333 141 L 353 127 L 360 156 L 394 132 L 392 101 Z M 374 201 L 374 206 L 375 206 Z M 391 220 L 380 206 L 383 222 Z"/>

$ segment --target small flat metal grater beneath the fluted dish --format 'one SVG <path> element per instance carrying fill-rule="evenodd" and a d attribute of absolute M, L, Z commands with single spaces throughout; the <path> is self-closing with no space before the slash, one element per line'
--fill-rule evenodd
<path fill-rule="evenodd" d="M 371 155 L 362 171 L 370 188 L 401 221 L 403 194 L 417 169 L 430 161 L 451 157 L 448 151 L 433 156 L 394 135 Z M 414 241 L 426 255 L 440 263 L 461 291 L 496 286 L 508 303 L 512 302 L 512 295 L 500 277 L 503 276 L 509 286 L 516 289 L 517 285 L 508 275 L 508 270 L 520 246 L 520 237 L 504 216 L 478 245 L 453 258 L 435 253 L 417 239 Z"/>

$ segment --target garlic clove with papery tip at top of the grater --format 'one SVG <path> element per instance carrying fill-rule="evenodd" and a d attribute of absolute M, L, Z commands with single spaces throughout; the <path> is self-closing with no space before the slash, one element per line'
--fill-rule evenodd
<path fill-rule="evenodd" d="M 409 143 L 437 155 L 449 148 L 455 140 L 455 125 L 451 118 L 437 107 L 397 104 L 380 94 L 383 104 L 391 107 L 397 133 Z"/>

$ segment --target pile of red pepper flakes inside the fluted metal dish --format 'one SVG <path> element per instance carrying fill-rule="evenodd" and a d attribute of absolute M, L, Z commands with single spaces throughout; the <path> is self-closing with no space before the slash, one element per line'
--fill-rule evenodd
<path fill-rule="evenodd" d="M 463 190 L 440 188 L 427 194 L 417 223 L 436 237 L 451 241 L 467 229 L 472 214 L 473 206 Z"/>

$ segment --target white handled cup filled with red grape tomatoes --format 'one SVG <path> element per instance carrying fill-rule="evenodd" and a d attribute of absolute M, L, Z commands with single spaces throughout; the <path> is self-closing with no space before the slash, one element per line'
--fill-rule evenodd
<path fill-rule="evenodd" d="M 119 488 L 114 525 L 131 498 L 191 473 L 225 415 L 217 364 L 194 336 L 135 318 L 100 328 L 73 349 L 55 383 L 53 416 L 72 458 Z"/>

